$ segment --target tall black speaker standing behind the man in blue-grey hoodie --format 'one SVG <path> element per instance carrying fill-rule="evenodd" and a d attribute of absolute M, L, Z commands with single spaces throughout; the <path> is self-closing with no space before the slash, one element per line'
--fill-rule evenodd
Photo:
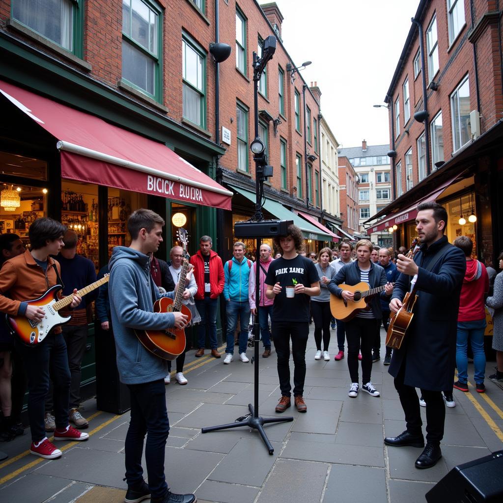
<path fill-rule="evenodd" d="M 112 325 L 110 330 L 97 327 L 96 407 L 113 414 L 123 414 L 131 408 L 129 389 L 119 380 Z"/>

